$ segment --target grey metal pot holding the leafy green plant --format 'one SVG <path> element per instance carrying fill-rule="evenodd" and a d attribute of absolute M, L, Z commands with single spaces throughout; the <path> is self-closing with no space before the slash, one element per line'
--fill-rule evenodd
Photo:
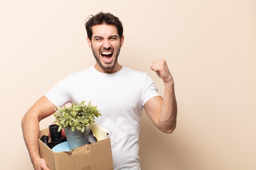
<path fill-rule="evenodd" d="M 67 137 L 67 143 L 70 146 L 70 150 L 88 144 L 88 137 L 90 134 L 90 126 L 85 126 L 85 130 L 75 129 L 73 132 L 71 128 L 64 128 L 65 135 Z"/>

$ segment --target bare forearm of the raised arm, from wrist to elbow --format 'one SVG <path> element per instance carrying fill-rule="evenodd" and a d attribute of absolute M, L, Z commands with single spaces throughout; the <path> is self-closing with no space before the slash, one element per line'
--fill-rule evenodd
<path fill-rule="evenodd" d="M 173 80 L 164 82 L 164 97 L 159 111 L 159 128 L 166 133 L 171 133 L 176 127 L 177 102 L 174 92 Z"/>

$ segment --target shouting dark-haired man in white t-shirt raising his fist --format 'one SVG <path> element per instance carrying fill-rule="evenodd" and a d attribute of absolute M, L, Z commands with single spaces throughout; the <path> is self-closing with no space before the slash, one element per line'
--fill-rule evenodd
<path fill-rule="evenodd" d="M 39 121 L 68 102 L 92 100 L 102 113 L 96 122 L 109 130 L 114 169 L 140 170 L 138 138 L 143 106 L 162 132 L 171 133 L 175 129 L 177 104 L 173 78 L 164 59 L 153 61 L 150 69 L 164 82 L 162 98 L 146 73 L 118 63 L 124 35 L 123 26 L 114 15 L 98 13 L 85 27 L 96 64 L 58 82 L 22 119 L 23 136 L 34 169 L 49 170 L 38 151 Z"/>

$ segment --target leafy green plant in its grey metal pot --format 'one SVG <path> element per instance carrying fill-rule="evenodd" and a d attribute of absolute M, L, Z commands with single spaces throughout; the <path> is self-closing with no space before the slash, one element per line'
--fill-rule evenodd
<path fill-rule="evenodd" d="M 56 118 L 54 123 L 59 126 L 58 131 L 64 128 L 70 149 L 88 144 L 90 123 L 95 122 L 95 117 L 101 116 L 97 106 L 92 106 L 91 101 L 86 105 L 83 101 L 73 103 L 70 108 L 63 106 L 57 109 L 53 114 Z"/>

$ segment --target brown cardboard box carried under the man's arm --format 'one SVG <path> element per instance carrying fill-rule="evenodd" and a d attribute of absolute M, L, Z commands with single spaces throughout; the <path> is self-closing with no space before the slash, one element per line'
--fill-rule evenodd
<path fill-rule="evenodd" d="M 106 129 L 91 125 L 97 142 L 74 148 L 69 152 L 53 152 L 40 138 L 48 135 L 48 128 L 40 130 L 39 150 L 50 170 L 113 170 L 110 139 Z M 105 131 L 104 131 L 105 130 Z"/>

